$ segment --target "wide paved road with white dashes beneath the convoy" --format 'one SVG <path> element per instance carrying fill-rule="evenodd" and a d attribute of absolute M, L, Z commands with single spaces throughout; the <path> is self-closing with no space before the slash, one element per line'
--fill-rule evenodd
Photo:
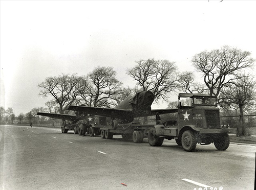
<path fill-rule="evenodd" d="M 0 189 L 254 188 L 253 145 L 185 152 L 174 140 L 151 147 L 146 138 L 135 144 L 119 135 L 108 140 L 72 132 L 0 126 Z"/>

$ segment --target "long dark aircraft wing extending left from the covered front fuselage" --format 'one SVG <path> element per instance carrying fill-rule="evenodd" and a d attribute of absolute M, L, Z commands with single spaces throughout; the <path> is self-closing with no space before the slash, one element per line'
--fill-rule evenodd
<path fill-rule="evenodd" d="M 114 109 L 114 108 L 97 108 L 97 107 L 88 107 L 88 106 L 69 106 L 68 110 L 84 112 L 94 115 L 100 115 L 111 118 L 120 118 L 125 119 L 126 117 L 133 116 L 133 112 L 125 109 Z"/>

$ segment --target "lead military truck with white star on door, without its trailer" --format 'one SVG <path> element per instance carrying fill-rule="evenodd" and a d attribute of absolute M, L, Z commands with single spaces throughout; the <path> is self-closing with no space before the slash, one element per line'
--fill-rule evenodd
<path fill-rule="evenodd" d="M 179 93 L 177 121 L 156 125 L 148 131 L 148 143 L 161 146 L 164 139 L 175 139 L 185 151 L 191 152 L 197 144 L 214 143 L 218 150 L 229 147 L 228 133 L 236 129 L 221 126 L 217 98 L 206 94 Z"/>

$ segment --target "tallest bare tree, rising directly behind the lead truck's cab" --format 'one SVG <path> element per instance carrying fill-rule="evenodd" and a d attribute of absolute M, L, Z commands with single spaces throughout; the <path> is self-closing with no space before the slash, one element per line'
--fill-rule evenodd
<path fill-rule="evenodd" d="M 195 68 L 203 74 L 204 83 L 211 96 L 218 96 L 221 89 L 239 79 L 239 73 L 253 65 L 251 53 L 230 46 L 220 50 L 203 51 L 193 59 Z"/>

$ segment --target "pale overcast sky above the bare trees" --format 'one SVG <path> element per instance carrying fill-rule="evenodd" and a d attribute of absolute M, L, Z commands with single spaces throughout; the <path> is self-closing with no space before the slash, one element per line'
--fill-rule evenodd
<path fill-rule="evenodd" d="M 256 58 L 256 1 L 0 1 L 1 106 L 46 107 L 38 83 L 112 66 L 124 86 L 140 59 L 175 61 L 223 45 Z M 167 106 L 161 105 L 163 108 Z M 154 106 L 153 106 L 154 108 Z"/>

